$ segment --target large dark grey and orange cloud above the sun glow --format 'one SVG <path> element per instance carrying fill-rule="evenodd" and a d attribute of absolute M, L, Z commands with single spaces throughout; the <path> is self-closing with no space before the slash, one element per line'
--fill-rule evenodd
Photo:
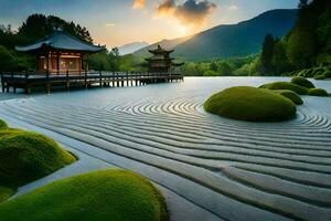
<path fill-rule="evenodd" d="M 178 4 L 175 0 L 163 0 L 157 8 L 156 14 L 171 15 L 183 24 L 203 24 L 206 18 L 216 8 L 215 3 L 209 0 L 185 0 L 183 4 Z"/>

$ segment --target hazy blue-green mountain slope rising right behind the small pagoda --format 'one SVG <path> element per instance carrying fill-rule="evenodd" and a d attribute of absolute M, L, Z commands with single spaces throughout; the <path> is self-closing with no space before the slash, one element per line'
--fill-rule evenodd
<path fill-rule="evenodd" d="M 174 55 L 189 61 L 246 56 L 260 51 L 267 33 L 282 38 L 295 25 L 298 10 L 273 10 L 252 20 L 220 25 L 174 48 Z"/>

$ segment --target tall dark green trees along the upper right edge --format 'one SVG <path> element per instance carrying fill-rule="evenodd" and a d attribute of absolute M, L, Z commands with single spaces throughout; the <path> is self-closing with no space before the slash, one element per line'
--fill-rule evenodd
<path fill-rule="evenodd" d="M 287 62 L 296 70 L 331 63 L 331 1 L 301 2 L 295 28 L 281 41 Z"/>

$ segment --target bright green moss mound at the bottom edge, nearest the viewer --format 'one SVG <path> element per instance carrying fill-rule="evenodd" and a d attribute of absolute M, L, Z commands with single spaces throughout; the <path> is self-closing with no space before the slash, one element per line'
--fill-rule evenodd
<path fill-rule="evenodd" d="M 103 170 L 58 180 L 4 202 L 0 220 L 166 221 L 168 212 L 163 197 L 145 178 Z"/>

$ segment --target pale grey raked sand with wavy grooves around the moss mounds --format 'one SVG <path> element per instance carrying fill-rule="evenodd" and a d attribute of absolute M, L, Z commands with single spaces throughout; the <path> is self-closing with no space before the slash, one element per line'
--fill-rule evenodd
<path fill-rule="evenodd" d="M 172 220 L 329 221 L 331 98 L 303 96 L 298 117 L 285 123 L 237 122 L 202 109 L 223 88 L 280 80 L 288 81 L 192 77 L 2 101 L 0 118 L 53 137 L 81 159 L 19 193 L 120 167 L 158 185 Z M 331 82 L 314 83 L 331 92 Z"/>

